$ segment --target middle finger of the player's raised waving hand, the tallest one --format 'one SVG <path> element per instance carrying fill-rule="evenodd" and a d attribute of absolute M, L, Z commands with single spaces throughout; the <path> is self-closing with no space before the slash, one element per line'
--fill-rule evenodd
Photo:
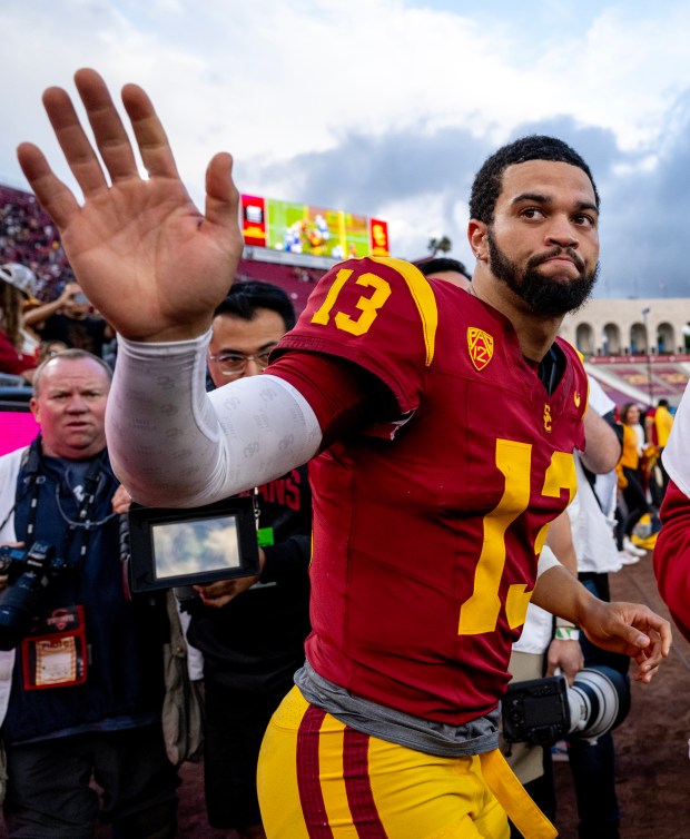
<path fill-rule="evenodd" d="M 112 182 L 138 177 L 129 137 L 103 79 L 96 70 L 82 69 L 75 73 L 75 83 Z"/>

